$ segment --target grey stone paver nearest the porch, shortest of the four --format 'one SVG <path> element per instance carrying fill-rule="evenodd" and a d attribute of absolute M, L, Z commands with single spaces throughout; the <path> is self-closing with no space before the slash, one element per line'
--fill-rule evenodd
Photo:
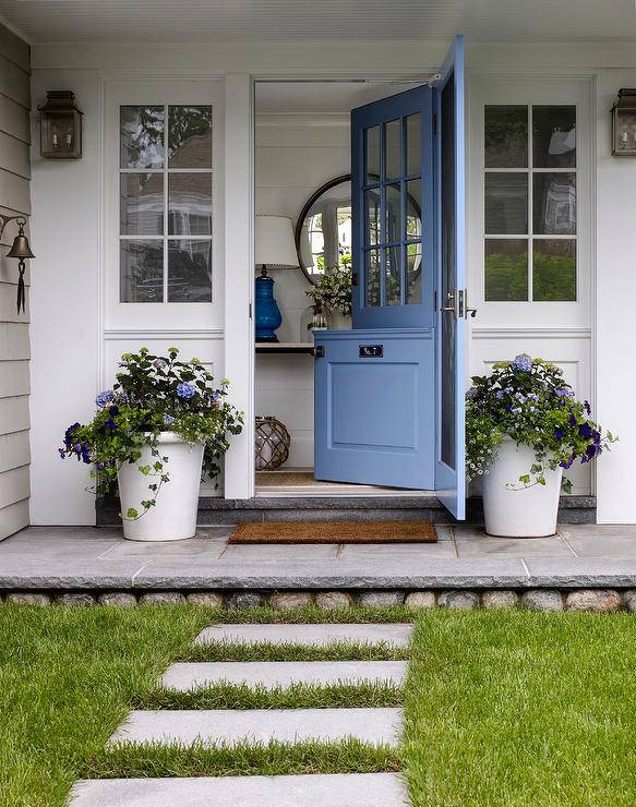
<path fill-rule="evenodd" d="M 326 647 L 336 642 L 359 645 L 380 645 L 394 648 L 408 647 L 413 630 L 412 625 L 213 625 L 205 628 L 195 639 L 197 645 L 211 642 L 237 642 L 256 645 L 304 645 Z"/>

